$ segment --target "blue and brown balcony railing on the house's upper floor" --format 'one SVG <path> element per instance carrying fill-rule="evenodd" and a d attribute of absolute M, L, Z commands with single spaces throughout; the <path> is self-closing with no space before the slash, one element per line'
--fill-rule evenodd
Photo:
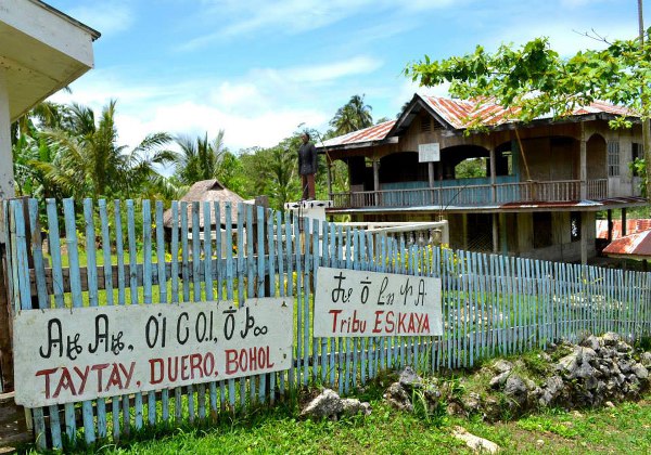
<path fill-rule="evenodd" d="M 434 186 L 411 190 L 381 190 L 333 193 L 334 208 L 438 206 L 480 207 L 509 203 L 567 203 L 579 200 L 579 180 L 528 181 L 467 186 Z M 608 196 L 607 179 L 586 182 L 586 197 Z"/>

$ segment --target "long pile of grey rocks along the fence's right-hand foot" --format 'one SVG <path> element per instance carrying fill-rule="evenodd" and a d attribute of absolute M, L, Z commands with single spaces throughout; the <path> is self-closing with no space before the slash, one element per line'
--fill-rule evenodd
<path fill-rule="evenodd" d="M 406 368 L 384 398 L 398 410 L 413 411 L 418 398 L 419 403 L 426 401 L 427 411 L 445 406 L 448 414 L 480 414 L 495 421 L 545 407 L 573 410 L 637 400 L 651 382 L 651 352 L 635 352 L 614 333 L 552 346 L 539 354 L 538 363 L 531 372 L 521 360 L 494 361 L 474 375 L 478 380 L 473 382 L 483 388 L 461 393 L 445 380 L 423 380 Z"/>

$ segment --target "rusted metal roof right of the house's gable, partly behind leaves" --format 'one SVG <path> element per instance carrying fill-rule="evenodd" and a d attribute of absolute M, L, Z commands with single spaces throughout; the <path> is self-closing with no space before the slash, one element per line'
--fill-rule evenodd
<path fill-rule="evenodd" d="M 516 114 L 519 108 L 507 109 L 495 103 L 483 103 L 468 100 L 451 100 L 439 96 L 420 96 L 436 114 L 447 121 L 455 129 L 463 129 L 468 126 L 471 119 L 482 119 L 481 125 L 485 127 L 496 127 L 498 125 L 514 122 L 512 116 Z M 481 107 L 480 107 L 481 106 Z M 569 116 L 583 116 L 592 114 L 609 114 L 609 115 L 626 115 L 635 116 L 636 114 L 623 106 L 615 106 L 610 103 L 595 102 L 589 106 L 575 108 Z M 539 119 L 551 118 L 541 116 Z"/>

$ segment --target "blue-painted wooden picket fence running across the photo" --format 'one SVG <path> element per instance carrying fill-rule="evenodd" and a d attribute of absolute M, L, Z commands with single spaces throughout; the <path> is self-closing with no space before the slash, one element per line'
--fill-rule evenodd
<path fill-rule="evenodd" d="M 302 386 L 345 394 L 386 368 L 472 367 L 583 333 L 651 334 L 649 273 L 420 246 L 244 204 L 175 202 L 168 227 L 161 202 L 48 199 L 44 212 L 36 199 L 26 204 L 2 207 L 15 311 L 295 299 L 291 369 L 34 408 L 39 448 L 60 448 L 64 439 L 118 441 L 148 425 L 205 422 L 273 405 Z M 320 265 L 441 277 L 444 336 L 312 338 Z"/>

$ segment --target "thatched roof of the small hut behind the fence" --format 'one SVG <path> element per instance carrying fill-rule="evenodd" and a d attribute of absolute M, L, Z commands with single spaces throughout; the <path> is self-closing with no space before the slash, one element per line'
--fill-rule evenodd
<path fill-rule="evenodd" d="M 243 203 L 244 199 L 237 193 L 233 193 L 226 186 L 224 186 L 218 180 L 202 180 L 201 182 L 194 183 L 188 193 L 183 197 L 181 197 L 180 202 L 188 203 L 201 203 L 199 205 L 199 221 L 200 226 L 204 226 L 204 202 L 208 203 L 220 203 L 220 221 L 219 224 L 226 227 L 226 210 L 224 207 L 225 203 L 230 203 L 232 206 L 232 217 L 231 222 L 232 225 L 238 223 L 238 204 Z M 179 213 L 181 211 L 181 207 L 179 205 Z M 181 220 L 178 220 L 178 225 L 181 225 Z M 171 227 L 171 208 L 165 210 L 163 216 L 163 224 L 165 227 Z M 210 204 L 210 224 L 216 225 L 215 223 L 215 205 Z M 188 204 L 188 226 L 192 227 L 192 204 Z"/>

